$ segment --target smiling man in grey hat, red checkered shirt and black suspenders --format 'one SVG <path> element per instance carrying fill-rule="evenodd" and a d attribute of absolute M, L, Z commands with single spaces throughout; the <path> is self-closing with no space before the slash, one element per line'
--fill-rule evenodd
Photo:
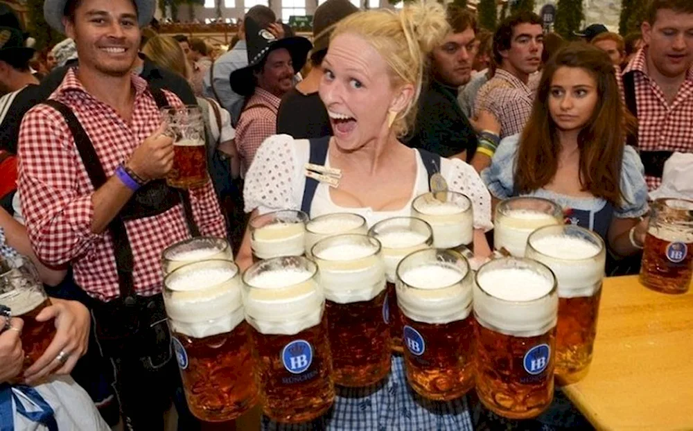
<path fill-rule="evenodd" d="M 75 40 L 79 66 L 19 130 L 19 193 L 31 245 L 71 264 L 89 296 L 98 352 L 112 366 L 123 424 L 162 430 L 173 398 L 179 426 L 198 428 L 181 382 L 161 296 L 161 252 L 195 231 L 226 236 L 211 183 L 166 185 L 173 142 L 159 106 L 182 106 L 132 73 L 154 0 L 46 0 L 51 27 Z M 76 353 L 61 351 L 53 363 Z"/>

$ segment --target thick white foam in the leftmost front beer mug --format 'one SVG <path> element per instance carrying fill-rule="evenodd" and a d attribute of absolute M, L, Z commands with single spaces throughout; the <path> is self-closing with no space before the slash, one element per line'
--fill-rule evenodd
<path fill-rule="evenodd" d="M 235 268 L 181 271 L 166 279 L 164 304 L 173 331 L 203 338 L 231 332 L 243 322 L 240 280 Z"/>

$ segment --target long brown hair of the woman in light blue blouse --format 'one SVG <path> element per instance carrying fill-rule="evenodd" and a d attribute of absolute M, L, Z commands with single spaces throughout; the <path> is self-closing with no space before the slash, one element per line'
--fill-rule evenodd
<path fill-rule="evenodd" d="M 560 67 L 579 67 L 597 82 L 597 105 L 578 134 L 579 176 L 582 190 L 621 206 L 621 163 L 635 118 L 624 109 L 617 73 L 608 55 L 584 43 L 568 44 L 547 62 L 541 75 L 532 114 L 520 136 L 515 166 L 515 188 L 529 193 L 549 184 L 558 170 L 561 150 L 548 98 L 554 73 Z"/>

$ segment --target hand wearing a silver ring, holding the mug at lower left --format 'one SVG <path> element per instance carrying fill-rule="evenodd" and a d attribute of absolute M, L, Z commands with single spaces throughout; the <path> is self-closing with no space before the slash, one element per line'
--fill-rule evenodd
<path fill-rule="evenodd" d="M 87 307 L 78 301 L 51 298 L 50 307 L 41 310 L 36 316 L 37 322 L 47 322 L 55 318 L 55 337 L 48 349 L 24 373 L 26 382 L 36 382 L 51 373 L 69 374 L 77 360 L 87 352 L 89 326 L 91 319 Z M 67 355 L 67 360 L 58 360 L 60 352 Z"/>

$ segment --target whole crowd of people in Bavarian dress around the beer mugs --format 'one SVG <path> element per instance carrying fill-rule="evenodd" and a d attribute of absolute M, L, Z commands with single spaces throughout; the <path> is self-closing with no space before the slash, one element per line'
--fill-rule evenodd
<path fill-rule="evenodd" d="M 0 3 L 0 257 L 37 267 L 52 305 L 36 319 L 57 330 L 23 369 L 24 323 L 0 315 L 0 413 L 10 403 L 14 429 L 161 430 L 171 403 L 179 430 L 206 426 L 186 406 L 161 298 L 161 252 L 191 236 L 227 238 L 245 270 L 250 218 L 349 212 L 370 227 L 410 215 L 438 173 L 471 200 L 475 259 L 491 256 L 495 204 L 532 195 L 604 239 L 607 274 L 631 274 L 651 199 L 693 199 L 690 0 L 651 0 L 641 33 L 597 24 L 577 42 L 532 12 L 491 33 L 453 4 L 360 11 L 349 0 L 317 8 L 311 41 L 254 6 L 225 53 L 157 34 L 155 8 L 46 0 L 67 39 L 37 60 Z M 160 115 L 184 105 L 203 112 L 211 178 L 188 191 L 166 184 L 173 140 Z M 306 164 L 339 170 L 338 185 Z M 684 175 L 667 177 L 674 164 Z M 385 384 L 342 388 L 306 426 L 491 426 L 471 398 L 427 408 L 395 355 Z M 582 421 L 552 408 L 515 426 Z"/>

